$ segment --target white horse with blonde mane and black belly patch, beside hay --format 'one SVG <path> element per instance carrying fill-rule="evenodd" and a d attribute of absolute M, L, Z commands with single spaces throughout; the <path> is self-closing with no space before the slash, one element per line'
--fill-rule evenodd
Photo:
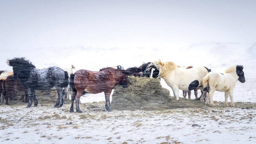
<path fill-rule="evenodd" d="M 151 71 L 153 68 L 158 73 L 155 77 L 161 77 L 165 80 L 167 85 L 173 90 L 176 100 L 179 100 L 179 89 L 190 91 L 199 88 L 203 91 L 203 77 L 211 71 L 206 67 L 180 68 L 174 62 L 162 62 L 161 60 L 154 61 L 148 65 L 147 71 Z M 205 91 L 203 93 L 206 94 Z"/>

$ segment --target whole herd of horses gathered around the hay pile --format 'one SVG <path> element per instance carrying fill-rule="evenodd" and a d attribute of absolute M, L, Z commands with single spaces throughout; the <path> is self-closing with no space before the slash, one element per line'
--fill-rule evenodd
<path fill-rule="evenodd" d="M 236 65 L 228 68 L 225 73 L 211 71 L 206 67 L 181 68 L 174 62 L 162 62 L 161 60 L 142 64 L 140 67 L 133 67 L 124 70 L 121 66 L 117 68 L 102 68 L 100 71 L 78 70 L 73 73 L 64 71 L 59 67 L 37 69 L 25 58 L 13 58 L 7 61 L 12 66 L 13 71 L 0 71 L 0 96 L 1 103 L 13 97 L 17 91 L 24 91 L 24 102 L 28 100 L 26 107 L 38 105 L 35 97 L 35 90 L 49 90 L 53 86 L 58 93 L 55 107 L 61 107 L 65 101 L 65 95 L 73 91 L 71 96 L 70 112 L 74 112 L 74 101 L 76 101 L 76 111 L 79 109 L 79 99 L 84 92 L 97 94 L 104 92 L 106 99 L 106 110 L 111 111 L 110 94 L 116 85 L 124 88 L 128 87 L 128 76 L 145 76 L 150 78 L 162 78 L 174 92 L 176 100 L 179 100 L 179 89 L 183 90 L 183 96 L 190 98 L 191 90 L 197 97 L 197 89 L 201 90 L 201 96 L 197 100 L 205 101 L 214 106 L 212 97 L 215 91 L 225 92 L 225 106 L 229 106 L 227 98 L 230 96 L 231 106 L 233 102 L 233 89 L 235 83 L 245 82 L 243 66 Z"/>

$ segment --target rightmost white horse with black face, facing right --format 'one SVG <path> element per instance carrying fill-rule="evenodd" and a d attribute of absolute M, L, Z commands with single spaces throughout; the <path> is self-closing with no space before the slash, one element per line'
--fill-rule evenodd
<path fill-rule="evenodd" d="M 235 107 L 233 101 L 233 90 L 237 81 L 244 83 L 244 67 L 236 65 L 228 68 L 225 73 L 209 72 L 203 78 L 203 88 L 207 91 L 206 103 L 214 106 L 212 96 L 215 91 L 225 92 L 225 106 L 229 106 L 227 98 L 230 96 L 231 106 Z"/>

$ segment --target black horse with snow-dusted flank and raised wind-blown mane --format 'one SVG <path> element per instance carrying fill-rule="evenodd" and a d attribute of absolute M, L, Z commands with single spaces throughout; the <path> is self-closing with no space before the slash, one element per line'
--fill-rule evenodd
<path fill-rule="evenodd" d="M 15 79 L 20 79 L 22 85 L 27 89 L 29 103 L 27 108 L 31 107 L 31 97 L 34 99 L 34 106 L 38 105 L 35 97 L 35 90 L 49 90 L 55 86 L 58 92 L 58 100 L 55 107 L 63 105 L 62 97 L 65 95 L 63 88 L 68 86 L 68 72 L 59 67 L 50 67 L 37 69 L 29 60 L 24 57 L 7 60 L 7 64 L 12 66 Z"/>

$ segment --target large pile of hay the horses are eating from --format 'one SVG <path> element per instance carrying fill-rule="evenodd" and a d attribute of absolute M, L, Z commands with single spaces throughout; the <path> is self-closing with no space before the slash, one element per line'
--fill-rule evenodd
<path fill-rule="evenodd" d="M 115 87 L 112 95 L 112 109 L 136 110 L 136 109 L 163 109 L 171 103 L 169 90 L 162 88 L 159 79 L 147 77 L 128 77 L 129 87 L 120 85 Z"/>

